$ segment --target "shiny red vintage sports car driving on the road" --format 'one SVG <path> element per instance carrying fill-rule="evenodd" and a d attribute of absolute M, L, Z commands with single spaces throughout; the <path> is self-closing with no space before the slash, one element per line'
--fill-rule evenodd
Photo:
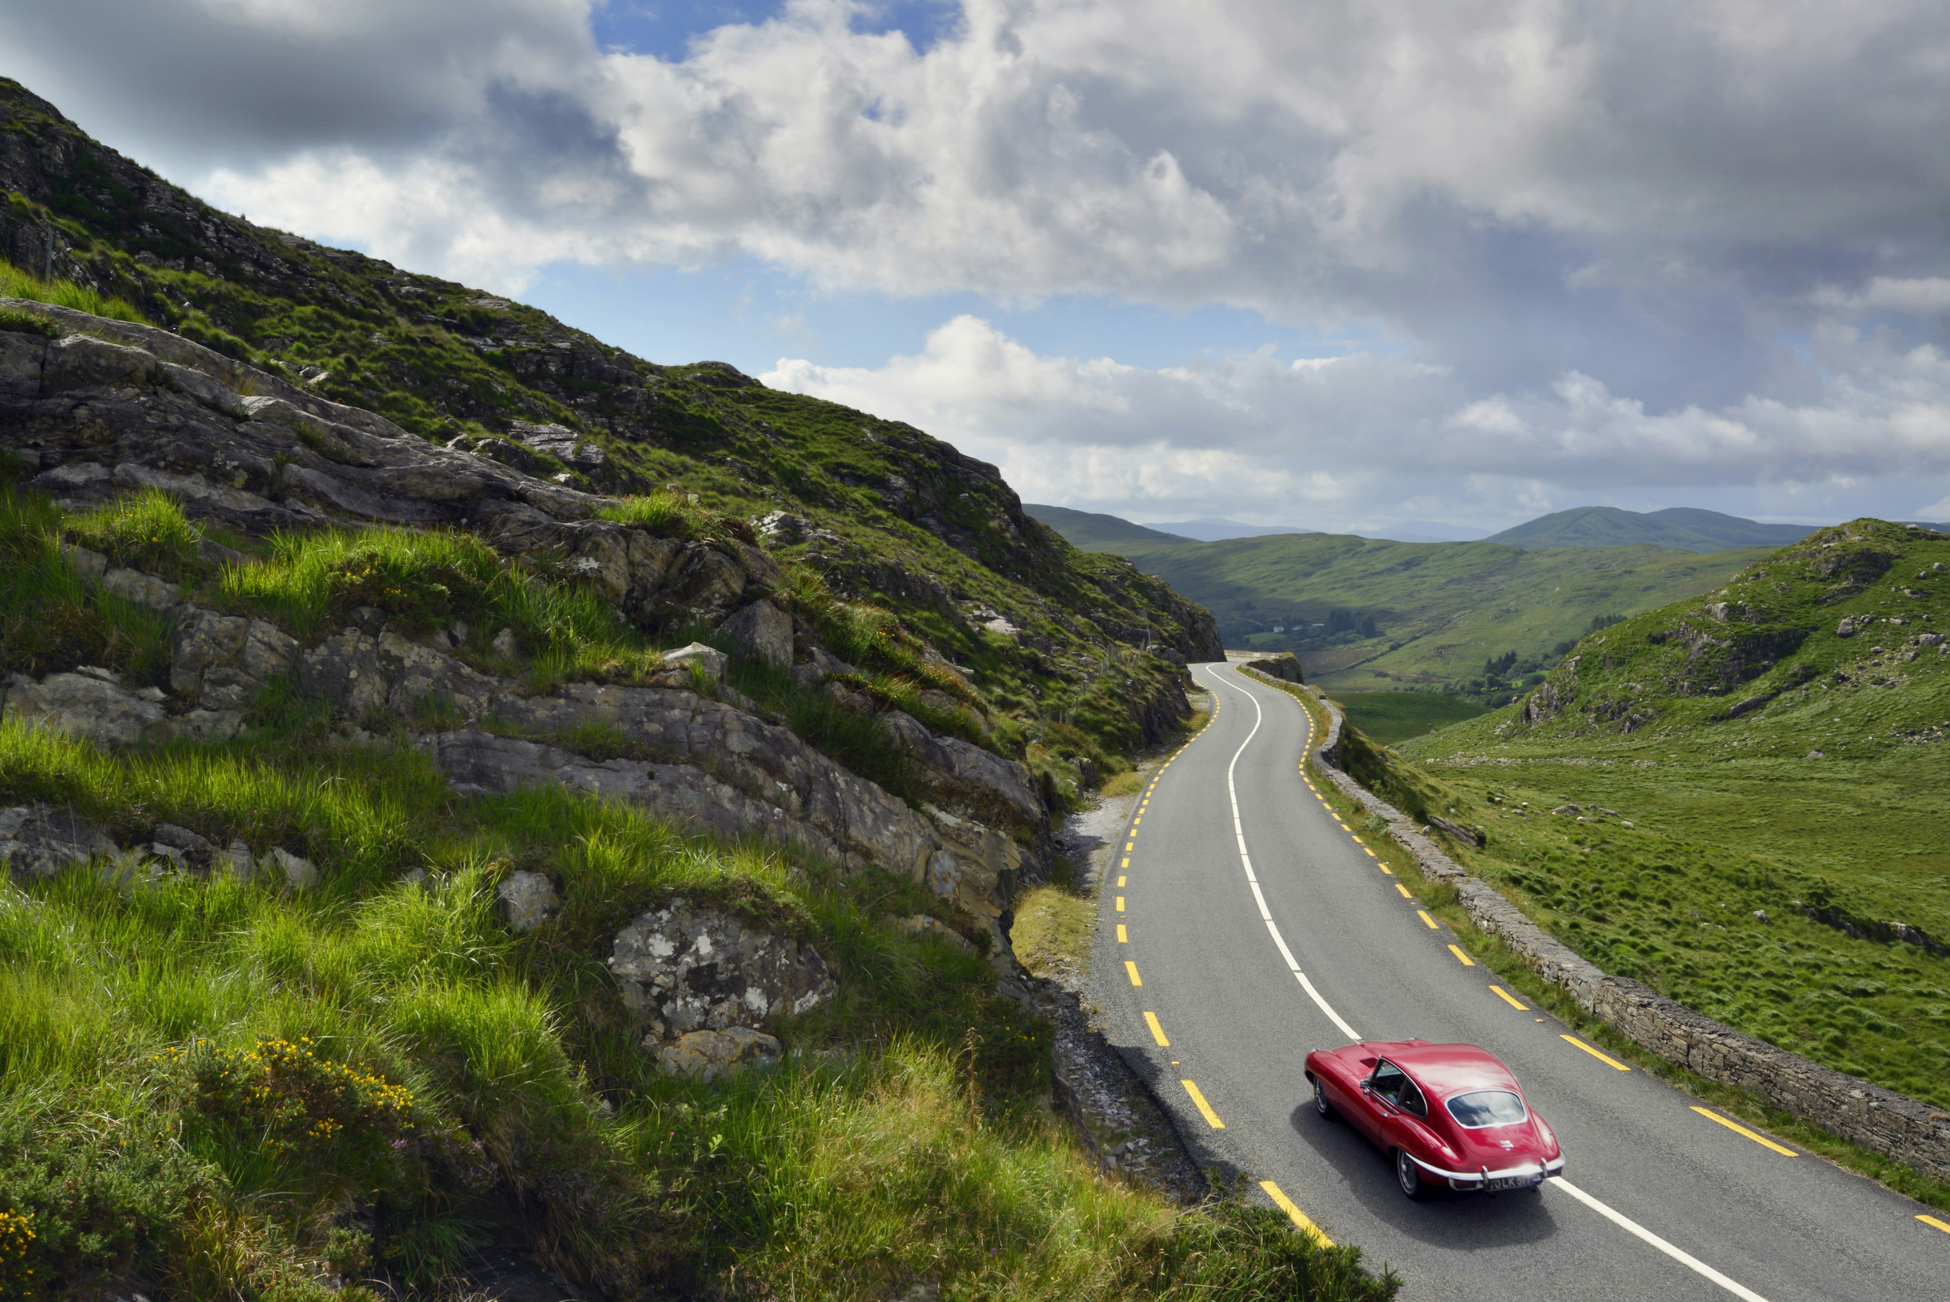
<path fill-rule="evenodd" d="M 1558 1136 L 1517 1078 L 1474 1044 L 1349 1044 L 1306 1054 L 1322 1117 L 1346 1117 L 1394 1161 L 1410 1199 L 1451 1189 L 1535 1189 L 1564 1171 Z"/>

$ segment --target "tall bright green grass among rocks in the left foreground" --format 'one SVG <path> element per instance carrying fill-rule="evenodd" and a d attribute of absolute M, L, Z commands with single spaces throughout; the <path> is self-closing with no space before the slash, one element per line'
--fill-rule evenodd
<path fill-rule="evenodd" d="M 160 498 L 62 519 L 14 494 L 4 517 L 10 664 L 160 664 L 166 629 L 74 584 L 58 533 L 287 627 L 370 599 L 378 570 L 394 615 L 441 578 L 443 619 L 521 625 L 534 662 L 488 668 L 630 673 L 645 654 L 601 603 L 482 578 L 445 535 L 316 535 L 197 572 Z M 1275 1212 L 1186 1214 L 1102 1181 L 1041 1101 L 1041 1021 L 979 958 L 885 923 L 967 927 L 909 878 L 560 791 L 456 800 L 406 734 L 335 742 L 283 691 L 252 722 L 222 746 L 115 755 L 0 724 L 0 802 L 68 804 L 125 843 L 166 820 L 322 876 L 304 896 L 226 876 L 0 884 L 0 1296 L 99 1277 L 183 1298 L 369 1298 L 370 1277 L 441 1292 L 484 1234 L 610 1296 L 924 1279 L 957 1298 L 1392 1294 Z M 521 937 L 493 898 L 517 867 L 564 900 Z M 784 1029 L 805 1052 L 722 1087 L 653 1070 L 603 958 L 673 892 L 819 947 L 840 994 Z"/>

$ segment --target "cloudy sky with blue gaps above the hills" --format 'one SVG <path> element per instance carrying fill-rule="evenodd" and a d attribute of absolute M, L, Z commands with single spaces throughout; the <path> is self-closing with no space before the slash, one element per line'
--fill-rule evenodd
<path fill-rule="evenodd" d="M 1028 502 L 1950 521 L 1940 0 L 0 0 L 0 72 Z"/>

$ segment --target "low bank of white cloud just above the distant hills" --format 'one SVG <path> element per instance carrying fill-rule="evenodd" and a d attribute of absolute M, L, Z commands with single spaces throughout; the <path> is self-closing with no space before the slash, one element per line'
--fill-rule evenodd
<path fill-rule="evenodd" d="M 760 379 L 944 435 L 1026 500 L 1149 517 L 1277 517 L 1287 504 L 1326 521 L 1400 517 L 1390 508 L 1418 494 L 1451 511 L 1566 492 L 1806 496 L 1950 472 L 1950 359 L 1852 332 L 1817 346 L 1837 373 L 1817 402 L 1667 412 L 1576 371 L 1470 398 L 1451 373 L 1365 353 L 1156 371 L 1047 357 L 975 316 L 881 367 L 780 359 Z"/>

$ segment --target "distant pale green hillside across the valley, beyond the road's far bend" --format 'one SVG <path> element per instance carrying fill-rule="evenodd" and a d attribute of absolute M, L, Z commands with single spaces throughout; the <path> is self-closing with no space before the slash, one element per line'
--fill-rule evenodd
<path fill-rule="evenodd" d="M 1121 545 L 1139 568 L 1219 617 L 1228 646 L 1297 650 L 1336 691 L 1435 689 L 1482 675 L 1515 650 L 1548 656 L 1597 615 L 1634 613 L 1722 582 L 1761 550 L 1695 554 L 1654 547 L 1529 552 L 1492 543 L 1386 543 L 1306 533 L 1225 543 Z M 1365 611 L 1379 636 L 1340 644 L 1275 634 Z M 1392 648 L 1392 650 L 1390 650 Z"/>

